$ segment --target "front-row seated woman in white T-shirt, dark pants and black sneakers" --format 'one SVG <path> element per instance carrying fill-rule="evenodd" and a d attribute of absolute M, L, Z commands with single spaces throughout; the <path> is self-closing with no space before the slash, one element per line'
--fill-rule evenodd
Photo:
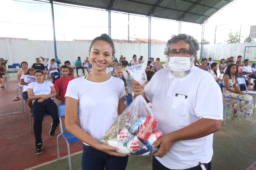
<path fill-rule="evenodd" d="M 34 134 L 36 138 L 35 154 L 42 153 L 42 122 L 44 114 L 48 113 L 53 119 L 49 135 L 52 137 L 60 120 L 57 105 L 52 98 L 57 95 L 54 85 L 51 81 L 44 81 L 44 72 L 36 70 L 34 72 L 35 82 L 28 84 L 28 98 L 33 100 L 32 113 L 34 116 Z"/>

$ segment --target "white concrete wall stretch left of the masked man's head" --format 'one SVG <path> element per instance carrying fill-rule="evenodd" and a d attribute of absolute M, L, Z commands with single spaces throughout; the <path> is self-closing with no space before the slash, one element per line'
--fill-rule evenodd
<path fill-rule="evenodd" d="M 147 43 L 114 43 L 116 49 L 116 57 L 119 59 L 120 55 L 126 57 L 130 62 L 133 54 L 137 58 L 142 55 L 144 60 L 148 59 L 148 44 Z M 77 56 L 82 57 L 84 61 L 88 56 L 91 42 L 87 41 L 57 41 L 57 55 L 61 61 L 69 60 L 71 65 L 77 59 Z M 161 61 L 166 61 L 164 55 L 165 44 L 151 44 L 151 56 L 156 59 L 159 57 Z M 31 67 L 35 63 L 35 58 L 43 56 L 46 58 L 54 58 L 53 41 L 37 41 L 37 40 L 6 40 L 0 39 L 0 57 L 8 59 L 7 65 L 13 63 L 28 62 Z"/>

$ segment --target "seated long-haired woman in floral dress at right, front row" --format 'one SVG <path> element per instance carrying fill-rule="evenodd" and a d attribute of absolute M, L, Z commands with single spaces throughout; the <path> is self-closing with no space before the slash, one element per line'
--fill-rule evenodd
<path fill-rule="evenodd" d="M 223 82 L 225 87 L 223 87 L 223 96 L 230 98 L 238 98 L 240 101 L 240 112 L 246 115 L 252 115 L 252 101 L 253 98 L 249 94 L 245 94 L 241 92 L 236 85 L 236 76 L 237 76 L 237 66 L 236 64 L 228 65 L 227 71 L 223 78 Z M 233 107 L 233 114 L 237 116 L 236 112 L 238 109 L 238 105 L 235 104 Z"/>

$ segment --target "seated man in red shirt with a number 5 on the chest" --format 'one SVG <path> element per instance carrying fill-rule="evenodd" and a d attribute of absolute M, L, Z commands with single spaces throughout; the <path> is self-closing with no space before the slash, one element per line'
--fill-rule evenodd
<path fill-rule="evenodd" d="M 60 72 L 62 74 L 61 78 L 57 79 L 54 82 L 54 87 L 56 89 L 57 95 L 56 99 L 61 100 L 61 103 L 66 101 L 65 94 L 67 91 L 68 83 L 69 81 L 75 79 L 75 78 L 70 78 L 68 77 L 68 66 L 62 65 L 60 67 Z"/>

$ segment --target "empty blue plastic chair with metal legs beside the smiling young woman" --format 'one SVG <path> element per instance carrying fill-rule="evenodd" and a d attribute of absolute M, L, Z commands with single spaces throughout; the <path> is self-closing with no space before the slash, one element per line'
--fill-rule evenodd
<path fill-rule="evenodd" d="M 71 170 L 71 159 L 70 159 L 69 143 L 75 143 L 75 142 L 78 142 L 80 140 L 77 139 L 76 137 L 74 137 L 67 130 L 63 131 L 62 123 L 61 123 L 61 117 L 65 116 L 65 107 L 66 107 L 65 103 L 58 106 L 58 114 L 59 114 L 59 118 L 60 118 L 60 134 L 57 136 L 57 154 L 58 154 L 58 160 L 59 160 L 60 159 L 59 137 L 63 136 L 64 139 L 66 140 L 67 146 L 68 146 L 68 164 L 69 164 L 69 169 Z M 79 111 L 78 111 L 77 114 L 79 114 Z"/>

